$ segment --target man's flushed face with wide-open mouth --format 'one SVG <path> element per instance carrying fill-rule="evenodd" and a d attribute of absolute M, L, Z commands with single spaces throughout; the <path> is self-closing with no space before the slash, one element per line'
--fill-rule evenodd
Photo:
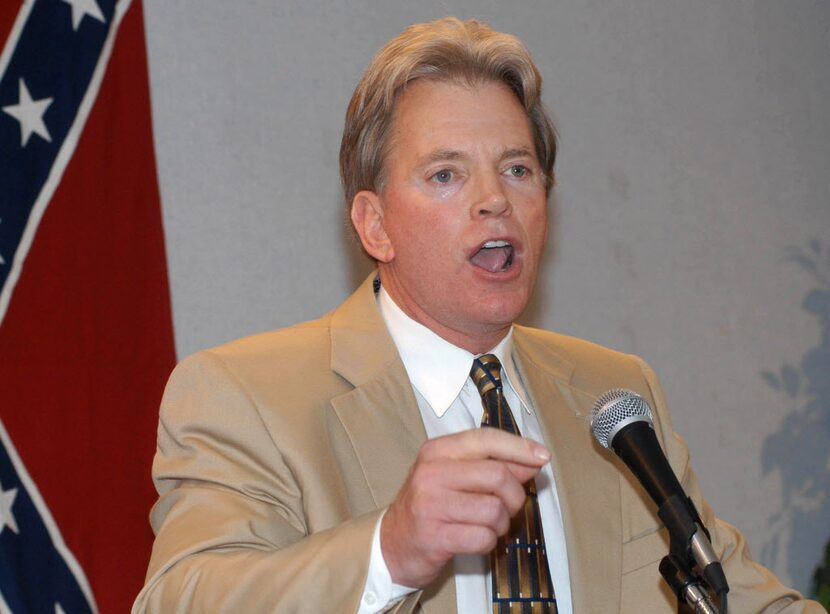
<path fill-rule="evenodd" d="M 498 343 L 527 305 L 547 237 L 545 180 L 516 96 L 495 82 L 411 83 L 377 203 L 389 246 L 378 266 L 395 302 L 472 352 Z"/>

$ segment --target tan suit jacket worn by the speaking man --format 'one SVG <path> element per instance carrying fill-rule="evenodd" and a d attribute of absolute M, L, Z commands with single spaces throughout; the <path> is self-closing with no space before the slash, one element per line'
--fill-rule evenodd
<path fill-rule="evenodd" d="M 673 612 L 653 505 L 590 434 L 609 388 L 644 396 L 722 555 L 730 612 L 815 610 L 714 518 L 640 359 L 516 327 L 514 351 L 553 452 L 576 613 Z M 426 439 L 371 278 L 320 320 L 184 360 L 165 391 L 151 513 L 157 537 L 135 612 L 355 612 L 381 511 Z M 805 605 L 806 604 L 806 605 Z M 789 606 L 789 607 L 788 607 Z M 452 566 L 396 612 L 454 612 Z"/>

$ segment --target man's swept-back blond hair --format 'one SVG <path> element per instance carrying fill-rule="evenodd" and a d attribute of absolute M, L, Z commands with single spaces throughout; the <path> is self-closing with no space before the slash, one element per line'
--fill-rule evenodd
<path fill-rule="evenodd" d="M 542 106 L 542 77 L 530 53 L 518 38 L 485 23 L 445 17 L 412 25 L 389 41 L 355 89 L 340 144 L 340 178 L 347 207 L 361 190 L 383 188 L 395 102 L 415 79 L 507 85 L 527 113 L 545 190 L 550 192 L 556 133 Z"/>

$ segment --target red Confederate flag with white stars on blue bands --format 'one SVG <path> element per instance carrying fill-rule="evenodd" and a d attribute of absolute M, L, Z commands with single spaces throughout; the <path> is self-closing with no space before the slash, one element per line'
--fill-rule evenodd
<path fill-rule="evenodd" d="M 139 0 L 0 3 L 0 613 L 126 612 L 175 360 Z"/>

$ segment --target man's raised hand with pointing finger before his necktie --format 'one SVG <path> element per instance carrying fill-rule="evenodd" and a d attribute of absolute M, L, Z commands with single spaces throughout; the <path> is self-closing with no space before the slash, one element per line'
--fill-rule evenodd
<path fill-rule="evenodd" d="M 423 588 L 456 554 L 490 552 L 548 460 L 543 445 L 494 428 L 427 441 L 381 523 L 392 580 Z"/>

